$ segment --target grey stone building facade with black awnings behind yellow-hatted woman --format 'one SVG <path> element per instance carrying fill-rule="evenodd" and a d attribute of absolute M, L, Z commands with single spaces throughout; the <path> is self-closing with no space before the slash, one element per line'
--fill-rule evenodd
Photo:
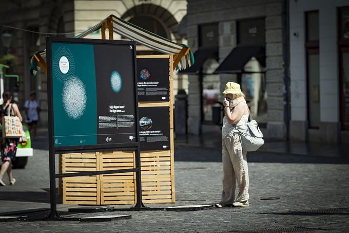
<path fill-rule="evenodd" d="M 212 129 L 210 109 L 222 102 L 226 82 L 235 81 L 265 137 L 287 138 L 285 3 L 188 0 L 186 38 L 196 57 L 196 64 L 183 72 L 189 81 L 189 134 Z"/>

